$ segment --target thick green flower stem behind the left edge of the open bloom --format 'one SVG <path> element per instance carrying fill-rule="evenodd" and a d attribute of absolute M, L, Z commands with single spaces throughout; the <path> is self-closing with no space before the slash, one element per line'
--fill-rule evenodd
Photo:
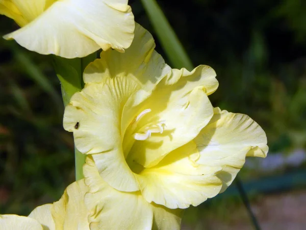
<path fill-rule="evenodd" d="M 89 62 L 96 58 L 93 53 L 84 58 L 66 59 L 54 56 L 54 67 L 56 74 L 61 81 L 62 97 L 64 106 L 66 106 L 73 94 L 81 91 L 84 87 L 83 72 Z M 85 164 L 86 155 L 82 154 L 74 147 L 75 157 L 75 180 L 84 178 L 83 165 Z"/>

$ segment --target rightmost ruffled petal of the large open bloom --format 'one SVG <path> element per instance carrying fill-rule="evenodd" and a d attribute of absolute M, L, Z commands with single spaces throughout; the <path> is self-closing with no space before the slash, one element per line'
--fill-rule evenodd
<path fill-rule="evenodd" d="M 200 153 L 198 164 L 220 166 L 221 192 L 231 185 L 246 156 L 266 157 L 264 130 L 247 115 L 214 109 L 214 117 L 194 139 Z"/>

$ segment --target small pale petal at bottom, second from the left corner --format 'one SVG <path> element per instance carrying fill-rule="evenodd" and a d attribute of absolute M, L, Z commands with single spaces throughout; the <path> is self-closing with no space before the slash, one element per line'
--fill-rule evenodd
<path fill-rule="evenodd" d="M 35 208 L 29 217 L 37 220 L 43 227 L 43 230 L 55 230 L 55 223 L 51 214 L 51 207 L 53 204 L 44 204 Z"/>

